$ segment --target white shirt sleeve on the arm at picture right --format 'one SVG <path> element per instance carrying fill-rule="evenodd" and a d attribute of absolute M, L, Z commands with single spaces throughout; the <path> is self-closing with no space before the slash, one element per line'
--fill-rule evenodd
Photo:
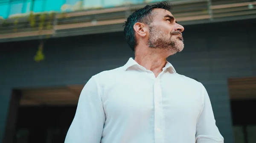
<path fill-rule="evenodd" d="M 215 124 L 212 105 L 204 86 L 202 93 L 204 104 L 196 124 L 196 143 L 224 143 L 224 138 Z"/>

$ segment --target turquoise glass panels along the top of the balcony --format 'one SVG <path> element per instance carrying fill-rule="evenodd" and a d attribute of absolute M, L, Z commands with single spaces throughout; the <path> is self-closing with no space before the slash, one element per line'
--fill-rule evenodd
<path fill-rule="evenodd" d="M 0 19 L 24 16 L 30 11 L 58 13 L 157 1 L 161 0 L 0 0 Z"/>

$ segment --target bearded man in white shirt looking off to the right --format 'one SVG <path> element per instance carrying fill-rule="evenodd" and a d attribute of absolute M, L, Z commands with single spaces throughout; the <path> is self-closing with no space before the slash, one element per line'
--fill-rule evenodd
<path fill-rule="evenodd" d="M 224 142 L 204 86 L 166 61 L 184 47 L 170 9 L 161 2 L 128 17 L 135 58 L 87 82 L 65 143 Z"/>

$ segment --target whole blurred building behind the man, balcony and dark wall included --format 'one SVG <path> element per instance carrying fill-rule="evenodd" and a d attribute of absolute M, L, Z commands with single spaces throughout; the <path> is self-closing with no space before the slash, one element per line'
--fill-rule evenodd
<path fill-rule="evenodd" d="M 91 76 L 133 52 L 127 16 L 158 0 L 0 0 L 0 143 L 64 143 Z M 225 143 L 256 143 L 256 1 L 169 0 L 185 48 L 168 58 L 204 84 Z"/>

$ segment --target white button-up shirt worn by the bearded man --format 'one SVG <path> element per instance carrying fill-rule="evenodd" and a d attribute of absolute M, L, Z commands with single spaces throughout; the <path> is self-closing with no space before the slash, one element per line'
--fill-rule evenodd
<path fill-rule="evenodd" d="M 65 143 L 224 143 L 204 86 L 169 62 L 157 76 L 130 58 L 81 91 Z"/>

